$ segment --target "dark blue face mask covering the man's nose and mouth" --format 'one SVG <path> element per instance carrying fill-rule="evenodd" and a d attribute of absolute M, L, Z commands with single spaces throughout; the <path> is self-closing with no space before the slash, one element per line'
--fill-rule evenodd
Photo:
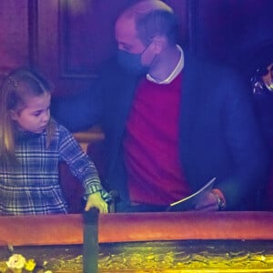
<path fill-rule="evenodd" d="M 145 52 L 145 50 L 140 54 L 134 54 L 126 52 L 124 50 L 118 50 L 117 61 L 130 74 L 134 74 L 137 76 L 147 74 L 148 67 L 143 66 L 141 63 L 141 56 Z"/>

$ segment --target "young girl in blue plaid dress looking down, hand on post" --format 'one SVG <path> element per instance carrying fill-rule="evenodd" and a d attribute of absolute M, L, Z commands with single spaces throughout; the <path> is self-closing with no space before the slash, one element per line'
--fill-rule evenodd
<path fill-rule="evenodd" d="M 94 163 L 64 126 L 50 117 L 52 87 L 35 71 L 19 68 L 5 77 L 0 93 L 0 214 L 67 213 L 58 183 L 66 161 L 83 182 L 86 207 L 107 212 L 109 196 Z"/>

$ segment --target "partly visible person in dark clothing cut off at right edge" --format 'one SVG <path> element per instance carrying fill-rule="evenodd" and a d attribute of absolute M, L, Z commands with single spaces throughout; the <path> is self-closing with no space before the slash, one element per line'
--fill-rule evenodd
<path fill-rule="evenodd" d="M 248 73 L 250 90 L 253 94 L 255 113 L 264 142 L 269 154 L 269 172 L 266 177 L 261 208 L 273 210 L 273 45 L 272 42 L 262 45 L 250 55 L 248 64 L 252 67 Z M 255 60 L 255 61 L 253 61 Z"/>

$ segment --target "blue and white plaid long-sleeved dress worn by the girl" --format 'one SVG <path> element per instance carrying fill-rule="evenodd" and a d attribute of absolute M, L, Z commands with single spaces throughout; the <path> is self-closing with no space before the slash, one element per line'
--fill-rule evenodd
<path fill-rule="evenodd" d="M 85 194 L 103 190 L 93 161 L 66 129 L 51 120 L 54 132 L 46 147 L 46 132 L 20 133 L 15 141 L 15 166 L 0 166 L 0 214 L 35 215 L 67 213 L 66 199 L 58 182 L 58 163 L 65 161 L 82 181 Z"/>

